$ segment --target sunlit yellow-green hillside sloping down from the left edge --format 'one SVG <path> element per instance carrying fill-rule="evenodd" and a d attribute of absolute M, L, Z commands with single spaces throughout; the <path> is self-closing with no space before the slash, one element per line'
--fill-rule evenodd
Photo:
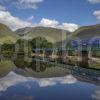
<path fill-rule="evenodd" d="M 15 43 L 19 36 L 15 34 L 9 27 L 0 23 L 0 44 Z"/>

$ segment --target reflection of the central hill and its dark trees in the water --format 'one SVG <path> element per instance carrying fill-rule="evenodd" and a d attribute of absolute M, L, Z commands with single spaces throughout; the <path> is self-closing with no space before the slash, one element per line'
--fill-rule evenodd
<path fill-rule="evenodd" d="M 50 78 L 50 77 L 61 77 L 66 76 L 70 74 L 70 70 L 60 67 L 56 65 L 55 63 L 49 63 L 49 62 L 42 62 L 37 60 L 32 60 L 32 62 L 22 62 L 24 64 L 23 66 L 19 67 L 19 60 L 14 62 L 15 65 L 17 65 L 17 69 L 14 70 L 17 74 L 23 75 L 23 76 L 31 76 L 31 77 L 38 77 L 38 78 Z"/>

